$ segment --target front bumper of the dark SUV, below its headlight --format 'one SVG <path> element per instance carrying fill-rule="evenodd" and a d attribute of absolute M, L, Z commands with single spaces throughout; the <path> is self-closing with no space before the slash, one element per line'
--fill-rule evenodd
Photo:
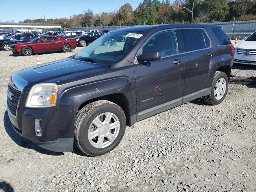
<path fill-rule="evenodd" d="M 21 101 L 15 116 L 7 107 L 12 127 L 20 136 L 47 150 L 73 150 L 75 111 L 56 112 L 54 107 L 25 108 L 22 104 Z M 35 119 L 41 119 L 42 136 L 36 135 Z"/>

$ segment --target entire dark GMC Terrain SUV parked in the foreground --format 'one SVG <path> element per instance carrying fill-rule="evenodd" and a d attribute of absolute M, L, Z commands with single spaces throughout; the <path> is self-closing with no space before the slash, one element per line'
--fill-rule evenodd
<path fill-rule="evenodd" d="M 12 74 L 8 115 L 42 148 L 72 151 L 75 142 L 99 156 L 120 143 L 126 126 L 200 97 L 220 104 L 233 55 L 217 25 L 121 28 L 75 56 Z"/>

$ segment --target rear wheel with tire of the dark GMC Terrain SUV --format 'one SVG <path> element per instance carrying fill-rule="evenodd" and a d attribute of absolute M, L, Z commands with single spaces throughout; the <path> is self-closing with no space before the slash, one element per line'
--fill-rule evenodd
<path fill-rule="evenodd" d="M 204 96 L 205 102 L 217 105 L 220 104 L 228 92 L 228 76 L 224 72 L 216 71 L 213 82 L 212 90 L 208 96 Z"/>

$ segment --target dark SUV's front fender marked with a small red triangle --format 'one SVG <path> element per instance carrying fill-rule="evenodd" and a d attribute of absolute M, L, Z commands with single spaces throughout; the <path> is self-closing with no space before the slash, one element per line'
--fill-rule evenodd
<path fill-rule="evenodd" d="M 124 94 L 129 106 L 135 103 L 132 81 L 128 78 L 114 78 L 68 88 L 60 96 L 59 111 L 78 110 L 88 100 L 115 93 Z"/>

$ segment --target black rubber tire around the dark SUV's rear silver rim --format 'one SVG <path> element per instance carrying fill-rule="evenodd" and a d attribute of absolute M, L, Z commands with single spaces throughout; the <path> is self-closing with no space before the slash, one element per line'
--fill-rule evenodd
<path fill-rule="evenodd" d="M 224 78 L 224 80 L 226 81 L 226 89 L 225 89 L 225 92 L 224 92 L 224 95 L 222 96 L 222 98 L 217 99 L 215 97 L 214 91 L 216 88 L 216 83 L 221 78 Z M 203 98 L 204 98 L 204 101 L 208 104 L 218 105 L 225 99 L 227 92 L 228 92 L 228 76 L 224 72 L 216 71 L 214 74 L 213 81 L 212 81 L 212 90 L 210 91 L 210 94 L 208 96 L 204 96 Z"/>

